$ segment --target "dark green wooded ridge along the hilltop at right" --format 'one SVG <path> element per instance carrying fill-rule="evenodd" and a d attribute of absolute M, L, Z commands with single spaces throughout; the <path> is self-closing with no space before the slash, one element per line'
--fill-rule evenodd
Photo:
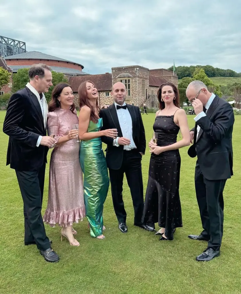
<path fill-rule="evenodd" d="M 222 76 L 222 77 L 241 77 L 241 73 L 237 73 L 232 69 L 219 69 L 218 67 L 213 67 L 211 65 L 196 65 L 196 66 L 177 66 L 175 68 L 175 72 L 179 79 L 192 77 L 193 73 L 196 69 L 203 69 L 205 74 L 208 78 L 215 77 L 215 76 Z M 170 71 L 173 71 L 173 66 L 169 67 Z"/>

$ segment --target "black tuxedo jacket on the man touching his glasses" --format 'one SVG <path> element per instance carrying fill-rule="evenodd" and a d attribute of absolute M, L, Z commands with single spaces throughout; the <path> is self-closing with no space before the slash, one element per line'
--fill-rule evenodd
<path fill-rule="evenodd" d="M 195 124 L 193 145 L 188 155 L 198 157 L 203 176 L 208 180 L 223 180 L 233 175 L 232 130 L 234 113 L 232 106 L 215 96 L 206 116 Z M 200 131 L 197 138 L 197 126 Z"/>

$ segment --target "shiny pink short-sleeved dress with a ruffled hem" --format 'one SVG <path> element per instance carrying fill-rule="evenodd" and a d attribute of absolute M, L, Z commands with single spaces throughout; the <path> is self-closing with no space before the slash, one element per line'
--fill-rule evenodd
<path fill-rule="evenodd" d="M 78 123 L 76 110 L 48 113 L 48 127 L 56 127 L 55 143 Z M 43 221 L 51 227 L 78 223 L 85 217 L 83 176 L 79 160 L 80 142 L 72 139 L 56 146 L 50 158 L 48 205 Z"/>

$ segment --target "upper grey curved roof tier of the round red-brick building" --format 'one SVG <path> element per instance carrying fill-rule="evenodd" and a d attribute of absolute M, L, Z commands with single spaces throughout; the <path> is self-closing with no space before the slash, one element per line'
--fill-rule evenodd
<path fill-rule="evenodd" d="M 5 59 L 44 59 L 44 60 L 57 60 L 57 61 L 65 61 L 65 62 L 70 62 L 73 64 L 78 64 L 82 67 L 82 69 L 84 68 L 84 66 L 82 66 L 81 64 L 77 63 L 77 62 L 73 62 L 73 61 L 69 61 L 63 58 L 59 58 L 56 56 L 52 56 L 52 55 L 48 55 L 42 52 L 38 52 L 38 51 L 29 51 L 29 52 L 24 52 L 21 54 L 16 54 L 16 55 L 11 55 L 11 56 L 7 56 L 5 57 Z"/>

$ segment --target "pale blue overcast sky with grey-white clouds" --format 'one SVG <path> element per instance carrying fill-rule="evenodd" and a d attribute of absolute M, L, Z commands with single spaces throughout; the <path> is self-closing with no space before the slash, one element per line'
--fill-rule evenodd
<path fill-rule="evenodd" d="M 0 0 L 0 35 L 89 74 L 210 64 L 241 72 L 241 0 Z"/>

